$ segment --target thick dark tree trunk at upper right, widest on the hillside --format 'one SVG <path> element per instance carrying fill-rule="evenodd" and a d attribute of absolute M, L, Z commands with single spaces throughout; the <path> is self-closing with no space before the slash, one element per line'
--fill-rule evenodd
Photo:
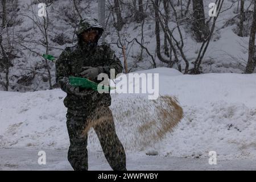
<path fill-rule="evenodd" d="M 209 27 L 205 24 L 203 0 L 193 0 L 193 32 L 197 42 L 203 42 L 209 34 Z"/>

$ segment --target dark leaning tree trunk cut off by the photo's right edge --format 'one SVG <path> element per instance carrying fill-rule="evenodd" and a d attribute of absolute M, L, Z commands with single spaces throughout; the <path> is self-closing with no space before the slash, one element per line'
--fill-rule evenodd
<path fill-rule="evenodd" d="M 251 24 L 251 32 L 250 32 L 250 39 L 249 39 L 249 55 L 248 55 L 248 62 L 246 65 L 245 73 L 253 73 L 256 67 L 256 59 L 254 56 L 255 33 L 256 33 L 256 0 L 254 0 L 253 23 Z"/>

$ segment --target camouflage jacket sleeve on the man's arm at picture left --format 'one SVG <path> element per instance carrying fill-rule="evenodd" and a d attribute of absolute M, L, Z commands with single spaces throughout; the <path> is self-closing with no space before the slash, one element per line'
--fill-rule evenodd
<path fill-rule="evenodd" d="M 67 48 L 61 53 L 59 59 L 56 60 L 55 68 L 56 68 L 56 83 L 60 85 L 61 90 L 63 90 L 66 93 L 69 93 L 69 90 L 67 88 L 67 84 L 60 84 L 60 80 L 62 80 L 64 77 L 70 76 L 69 71 L 69 52 L 67 51 Z"/>

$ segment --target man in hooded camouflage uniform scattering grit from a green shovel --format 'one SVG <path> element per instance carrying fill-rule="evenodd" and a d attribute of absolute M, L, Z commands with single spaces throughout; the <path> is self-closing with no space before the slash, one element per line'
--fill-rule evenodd
<path fill-rule="evenodd" d="M 103 32 L 96 19 L 85 18 L 79 23 L 78 44 L 67 47 L 56 61 L 56 82 L 67 93 L 64 105 L 67 110 L 67 128 L 70 140 L 68 160 L 75 170 L 88 170 L 87 132 L 92 125 L 96 131 L 102 150 L 113 170 L 126 170 L 126 155 L 122 143 L 115 133 L 109 93 L 98 93 L 92 89 L 72 86 L 69 76 L 97 80 L 100 73 L 110 77 L 110 69 L 115 75 L 122 72 L 121 61 L 115 56 L 108 44 L 97 45 Z"/>

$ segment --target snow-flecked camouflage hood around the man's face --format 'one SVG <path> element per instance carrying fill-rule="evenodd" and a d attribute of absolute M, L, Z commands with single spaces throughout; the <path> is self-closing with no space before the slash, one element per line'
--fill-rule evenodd
<path fill-rule="evenodd" d="M 89 45 L 84 43 L 82 41 L 82 32 L 89 31 L 92 28 L 96 28 L 99 30 L 98 36 L 96 37 L 96 40 L 94 43 L 90 43 Z M 95 18 L 86 17 L 80 20 L 78 30 L 76 32 L 77 38 L 79 40 L 79 46 L 82 49 L 93 49 L 97 46 L 98 39 L 100 39 L 102 33 L 104 31 L 104 28 L 101 26 L 100 23 L 98 23 L 98 20 Z"/>

